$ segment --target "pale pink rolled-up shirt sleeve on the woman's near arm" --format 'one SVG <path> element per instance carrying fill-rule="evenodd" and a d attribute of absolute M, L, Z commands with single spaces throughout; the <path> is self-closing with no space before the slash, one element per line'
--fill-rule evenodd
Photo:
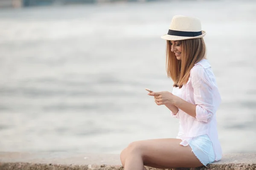
<path fill-rule="evenodd" d="M 198 67 L 192 68 L 190 76 L 196 105 L 195 118 L 198 121 L 207 122 L 214 111 L 214 94 L 211 79 L 206 70 L 199 65 Z"/>

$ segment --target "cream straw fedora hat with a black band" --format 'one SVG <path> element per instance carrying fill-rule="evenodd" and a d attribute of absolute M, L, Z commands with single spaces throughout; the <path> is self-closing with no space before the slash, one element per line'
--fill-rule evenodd
<path fill-rule="evenodd" d="M 175 15 L 172 18 L 168 34 L 161 38 L 164 40 L 187 40 L 194 38 L 202 38 L 206 34 L 201 29 L 201 21 L 196 17 L 186 17 L 182 15 Z"/>

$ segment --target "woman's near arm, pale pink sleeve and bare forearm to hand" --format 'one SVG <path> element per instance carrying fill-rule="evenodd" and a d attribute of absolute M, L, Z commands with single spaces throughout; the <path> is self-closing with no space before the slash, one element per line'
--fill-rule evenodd
<path fill-rule="evenodd" d="M 186 102 L 168 91 L 153 92 L 148 95 L 156 98 L 157 105 L 175 105 L 198 121 L 207 122 L 219 105 L 218 103 L 213 103 L 214 93 L 217 95 L 218 91 L 213 90 L 211 79 L 203 67 L 192 68 L 190 74 L 195 105 Z M 218 98 L 220 100 L 220 97 Z"/>

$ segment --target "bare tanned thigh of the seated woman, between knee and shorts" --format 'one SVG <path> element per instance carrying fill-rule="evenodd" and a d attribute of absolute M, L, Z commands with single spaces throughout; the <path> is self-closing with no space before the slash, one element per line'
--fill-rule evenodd
<path fill-rule="evenodd" d="M 203 166 L 191 147 L 180 145 L 180 142 L 180 139 L 150 139 L 133 142 L 130 147 L 137 148 L 146 166 L 156 168 Z"/>

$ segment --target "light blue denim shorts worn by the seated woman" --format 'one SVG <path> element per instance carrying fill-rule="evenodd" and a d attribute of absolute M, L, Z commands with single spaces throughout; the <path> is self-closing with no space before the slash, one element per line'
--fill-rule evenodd
<path fill-rule="evenodd" d="M 189 142 L 189 146 L 204 166 L 215 161 L 215 153 L 208 135 L 193 137 Z"/>

